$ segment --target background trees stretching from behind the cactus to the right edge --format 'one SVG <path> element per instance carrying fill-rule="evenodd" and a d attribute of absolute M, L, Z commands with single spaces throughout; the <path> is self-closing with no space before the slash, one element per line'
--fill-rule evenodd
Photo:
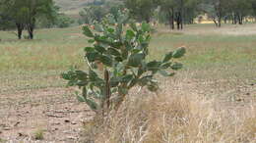
<path fill-rule="evenodd" d="M 172 29 L 194 24 L 195 18 L 205 14 L 216 26 L 256 19 L 256 0 L 95 0 L 80 12 L 79 23 L 101 21 L 107 14 L 116 15 L 118 9 L 128 9 L 137 22 L 159 22 Z"/>

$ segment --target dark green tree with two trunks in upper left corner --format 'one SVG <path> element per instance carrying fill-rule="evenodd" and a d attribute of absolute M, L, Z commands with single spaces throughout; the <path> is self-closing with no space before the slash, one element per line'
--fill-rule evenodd
<path fill-rule="evenodd" d="M 52 0 L 1 0 L 1 2 L 4 4 L 2 13 L 11 18 L 10 22 L 16 24 L 19 39 L 22 38 L 24 29 L 28 30 L 32 39 L 36 20 L 40 17 L 51 20 L 56 10 Z"/>

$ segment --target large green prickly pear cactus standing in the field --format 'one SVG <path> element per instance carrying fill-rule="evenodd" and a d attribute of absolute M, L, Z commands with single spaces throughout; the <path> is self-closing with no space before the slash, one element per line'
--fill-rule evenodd
<path fill-rule="evenodd" d="M 62 73 L 68 86 L 82 89 L 82 95 L 77 94 L 78 100 L 87 103 L 97 114 L 118 110 L 134 86 L 156 92 L 159 89 L 156 74 L 174 75 L 174 71 L 182 68 L 175 59 L 185 54 L 185 48 L 181 47 L 168 52 L 161 61 L 149 61 L 150 24 L 130 24 L 124 31 L 128 16 L 119 13 L 117 20 L 109 16 L 92 26 L 93 31 L 88 25 L 84 26 L 84 34 L 93 45 L 85 48 L 89 71 L 72 69 Z"/>

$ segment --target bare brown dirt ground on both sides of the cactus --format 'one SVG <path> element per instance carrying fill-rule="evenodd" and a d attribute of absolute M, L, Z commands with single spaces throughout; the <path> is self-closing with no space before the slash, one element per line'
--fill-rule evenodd
<path fill-rule="evenodd" d="M 216 109 L 219 110 L 256 107 L 256 84 L 232 83 L 226 80 L 174 78 L 163 83 L 161 94 L 172 92 L 180 96 L 197 94 L 215 97 Z M 79 142 L 83 122 L 93 118 L 94 113 L 83 103 L 78 103 L 73 92 L 66 88 L 46 88 L 0 94 L 0 138 L 9 142 L 34 142 L 35 132 L 41 130 L 44 138 L 37 142 Z"/>

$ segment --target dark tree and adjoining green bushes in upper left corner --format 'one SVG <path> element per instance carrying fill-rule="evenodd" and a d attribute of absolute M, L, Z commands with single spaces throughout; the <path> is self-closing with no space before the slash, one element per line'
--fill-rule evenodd
<path fill-rule="evenodd" d="M 52 0 L 0 0 L 0 29 L 16 28 L 19 39 L 24 30 L 32 39 L 36 26 L 65 27 L 71 23 L 69 17 L 59 13 Z"/>

